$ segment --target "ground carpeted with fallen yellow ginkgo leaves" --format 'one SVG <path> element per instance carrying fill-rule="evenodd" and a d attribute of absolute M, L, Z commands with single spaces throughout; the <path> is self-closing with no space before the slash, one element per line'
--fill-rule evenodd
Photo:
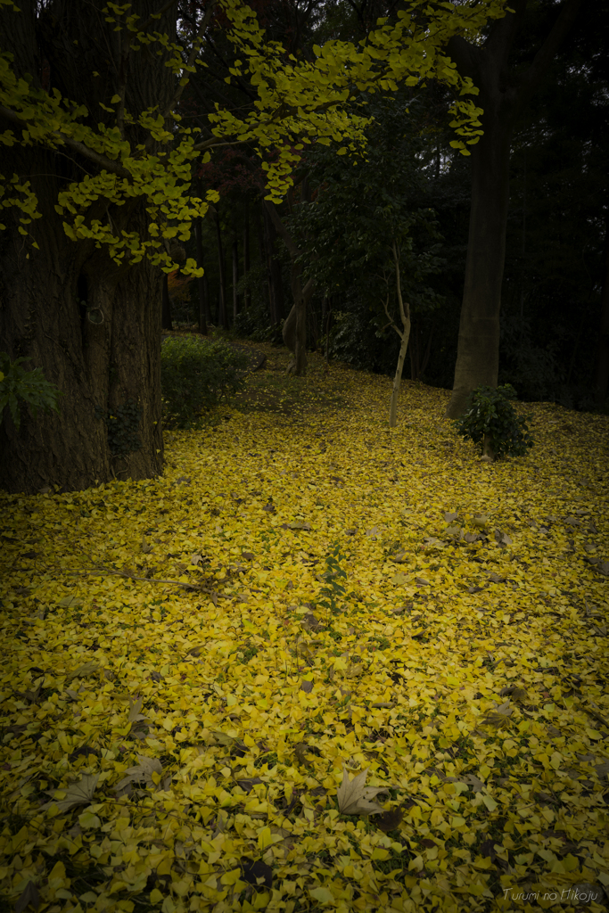
<path fill-rule="evenodd" d="M 0 493 L 0 908 L 606 908 L 609 418 L 487 464 L 255 348 L 163 477 Z"/>

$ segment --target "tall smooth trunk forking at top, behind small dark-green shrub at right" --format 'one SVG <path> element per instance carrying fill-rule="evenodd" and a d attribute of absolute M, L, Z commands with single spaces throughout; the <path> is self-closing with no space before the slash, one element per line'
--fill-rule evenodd
<path fill-rule="evenodd" d="M 530 67 L 517 74 L 508 58 L 522 25 L 527 0 L 512 0 L 513 13 L 495 20 L 483 47 L 456 36 L 448 54 L 461 76 L 479 89 L 484 135 L 472 147 L 472 199 L 466 277 L 461 305 L 457 364 L 446 418 L 463 415 L 467 397 L 479 384 L 497 386 L 499 312 L 509 203 L 509 142 L 514 122 L 539 86 L 584 0 L 566 0 Z"/>

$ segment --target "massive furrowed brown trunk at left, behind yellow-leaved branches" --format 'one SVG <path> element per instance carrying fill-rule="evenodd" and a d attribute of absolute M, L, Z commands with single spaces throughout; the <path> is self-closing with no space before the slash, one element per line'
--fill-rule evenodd
<path fill-rule="evenodd" d="M 97 112 L 120 57 L 120 39 L 110 28 L 104 40 L 100 38 L 103 16 L 98 5 L 101 2 L 53 0 L 40 9 L 22 4 L 18 14 L 0 10 L 0 35 L 3 47 L 14 53 L 16 75 L 30 74 L 34 86 L 40 85 L 37 63 L 44 47 L 47 88 L 57 87 L 69 100 Z M 147 16 L 157 6 L 142 0 L 138 11 Z M 174 16 L 163 14 L 157 27 L 173 40 Z M 79 67 L 82 58 L 70 50 L 77 46 L 79 55 L 89 60 L 90 73 Z M 93 78 L 96 68 L 104 79 Z M 138 59 L 130 80 L 128 100 L 138 110 L 163 107 L 173 96 L 172 74 L 159 69 L 157 58 L 150 55 Z M 7 227 L 0 232 L 2 349 L 11 359 L 29 359 L 26 368 L 41 368 L 64 395 L 58 415 L 38 413 L 36 420 L 23 404 L 18 430 L 9 414 L 2 416 L 0 487 L 32 494 L 49 486 L 67 491 L 113 477 L 157 476 L 163 467 L 163 274 L 145 259 L 119 268 L 106 248 L 97 249 L 90 240 L 69 240 L 55 210 L 58 192 L 95 165 L 79 160 L 76 152 L 67 156 L 22 146 L 18 129 L 0 116 L 0 131 L 9 128 L 17 142 L 2 147 L 2 170 L 28 177 L 42 217 L 28 226 L 39 249 L 29 247 L 27 254 L 17 232 L 22 214 L 5 210 Z M 127 134 L 133 143 L 145 139 L 139 128 L 129 128 Z M 86 217 L 110 219 L 117 233 L 145 236 L 145 206 L 142 198 L 121 206 L 100 199 Z"/>

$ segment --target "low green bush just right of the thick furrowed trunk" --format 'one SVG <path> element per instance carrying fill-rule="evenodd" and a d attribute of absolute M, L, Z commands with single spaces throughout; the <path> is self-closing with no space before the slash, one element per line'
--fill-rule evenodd
<path fill-rule="evenodd" d="M 203 414 L 241 390 L 238 372 L 247 365 L 245 352 L 225 342 L 197 336 L 170 336 L 161 346 L 161 391 L 165 427 L 200 427 Z"/>

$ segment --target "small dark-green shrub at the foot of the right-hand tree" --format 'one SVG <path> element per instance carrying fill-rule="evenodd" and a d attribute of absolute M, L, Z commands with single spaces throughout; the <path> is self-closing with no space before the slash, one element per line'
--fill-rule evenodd
<path fill-rule="evenodd" d="M 524 456 L 533 440 L 527 420 L 514 411 L 513 399 L 516 391 L 509 383 L 501 387 L 481 385 L 469 394 L 465 415 L 453 424 L 460 435 L 480 444 L 488 456 Z"/>

